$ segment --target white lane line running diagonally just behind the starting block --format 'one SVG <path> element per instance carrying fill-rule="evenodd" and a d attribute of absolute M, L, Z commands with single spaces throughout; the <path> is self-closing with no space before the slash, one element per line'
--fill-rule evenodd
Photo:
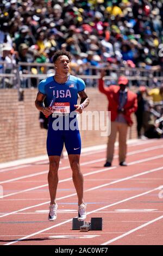
<path fill-rule="evenodd" d="M 114 205 L 117 205 L 117 204 L 121 204 L 121 203 L 127 202 L 127 201 L 129 201 L 129 200 L 131 200 L 131 199 L 144 196 L 145 194 L 151 193 L 151 192 L 156 191 L 156 190 L 159 190 L 159 187 L 156 187 L 156 188 L 154 188 L 153 190 L 149 190 L 149 191 L 144 192 L 144 193 L 141 193 L 141 194 L 137 194 L 136 196 L 123 199 L 123 200 L 121 200 L 121 201 L 119 201 L 119 202 L 116 202 L 116 203 L 113 203 L 113 204 L 109 204 L 109 205 L 103 206 L 103 207 L 98 208 L 98 209 L 96 209 L 96 210 L 87 212 L 87 215 L 90 215 L 90 214 L 92 214 L 93 212 L 97 212 L 97 211 L 100 211 L 100 210 L 109 208 L 109 207 L 114 206 Z M 40 231 L 37 231 L 37 232 L 35 232 L 35 233 L 33 233 L 33 234 L 30 234 L 30 235 L 28 235 L 28 236 L 21 237 L 20 239 L 17 239 L 17 240 L 15 240 L 15 241 L 12 241 L 12 242 L 9 242 L 9 243 L 5 243 L 5 245 L 12 245 L 13 243 L 17 243 L 17 242 L 22 241 L 22 240 L 24 240 L 24 239 L 28 239 L 29 237 L 32 237 L 32 236 L 41 234 L 41 233 L 44 232 L 44 231 L 51 230 L 52 228 L 59 227 L 60 225 L 66 224 L 66 223 L 71 222 L 71 221 L 72 221 L 72 218 L 70 218 L 69 220 L 66 220 L 66 221 L 64 221 L 64 222 L 60 222 L 60 223 L 58 223 L 58 224 L 52 225 L 52 226 L 49 227 L 49 228 L 45 228 L 45 229 L 42 229 L 42 230 L 40 230 Z"/>

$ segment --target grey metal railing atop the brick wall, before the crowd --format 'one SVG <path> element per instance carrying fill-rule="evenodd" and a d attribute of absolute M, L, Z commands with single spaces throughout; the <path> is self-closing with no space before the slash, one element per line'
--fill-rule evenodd
<path fill-rule="evenodd" d="M 107 64 L 106 64 L 107 65 Z M 97 86 L 97 80 L 100 77 L 101 69 L 106 69 L 106 85 L 116 84 L 120 75 L 125 75 L 129 80 L 129 86 L 145 84 L 153 86 L 153 79 L 163 82 L 163 70 L 155 67 L 151 70 L 144 68 L 124 68 L 118 66 L 87 66 L 81 65 L 80 71 L 71 68 L 72 74 L 77 75 L 86 82 L 86 86 Z M 17 65 L 11 65 L 6 62 L 0 62 L 0 88 L 30 88 L 37 87 L 37 84 L 47 76 L 55 74 L 54 65 L 51 63 L 26 63 L 19 62 Z M 34 69 L 36 74 L 33 74 Z"/>

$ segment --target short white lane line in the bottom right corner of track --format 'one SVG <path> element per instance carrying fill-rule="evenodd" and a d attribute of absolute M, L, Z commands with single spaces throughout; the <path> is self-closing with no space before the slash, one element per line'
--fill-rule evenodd
<path fill-rule="evenodd" d="M 161 220 L 161 218 L 163 218 L 163 215 L 161 215 L 161 216 L 158 217 L 158 218 L 155 218 L 155 219 L 152 220 L 152 221 L 148 221 L 147 223 L 142 224 L 142 225 L 140 225 L 140 226 L 137 227 L 137 228 L 131 229 L 130 231 L 124 233 L 123 235 L 117 236 L 117 237 L 115 237 L 114 239 L 111 239 L 111 240 L 109 240 L 109 241 L 107 241 L 107 242 L 105 242 L 105 243 L 102 243 L 101 245 L 109 245 L 109 243 L 112 243 L 112 242 L 115 242 L 115 241 L 117 241 L 117 240 L 119 240 L 119 239 L 122 239 L 122 237 L 124 237 L 124 236 L 130 235 L 131 233 L 134 233 L 135 231 L 137 231 L 137 230 L 139 230 L 139 229 L 141 229 L 141 228 L 144 228 L 144 227 L 146 227 L 147 225 L 150 225 L 150 224 L 152 224 L 152 223 L 154 223 L 154 222 L 156 222 L 156 221 Z"/>

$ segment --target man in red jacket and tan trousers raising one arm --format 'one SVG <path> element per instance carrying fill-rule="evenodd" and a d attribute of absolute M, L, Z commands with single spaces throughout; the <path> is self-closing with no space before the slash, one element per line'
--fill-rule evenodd
<path fill-rule="evenodd" d="M 127 130 L 133 124 L 131 113 L 137 109 L 137 95 L 127 88 L 128 80 L 125 76 L 118 78 L 118 86 L 104 87 L 104 71 L 99 79 L 99 91 L 108 97 L 108 111 L 111 111 L 111 133 L 108 139 L 105 167 L 111 166 L 114 155 L 114 144 L 119 133 L 119 163 L 127 166 Z"/>

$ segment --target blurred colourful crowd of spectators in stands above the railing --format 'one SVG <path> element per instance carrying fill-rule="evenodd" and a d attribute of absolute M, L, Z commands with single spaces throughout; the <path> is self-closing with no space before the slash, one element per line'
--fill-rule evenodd
<path fill-rule="evenodd" d="M 90 65 L 163 65 L 162 1 L 2 0 L 0 22 L 0 61 L 51 63 L 66 49 L 77 74 L 82 65 L 84 74 Z"/>

